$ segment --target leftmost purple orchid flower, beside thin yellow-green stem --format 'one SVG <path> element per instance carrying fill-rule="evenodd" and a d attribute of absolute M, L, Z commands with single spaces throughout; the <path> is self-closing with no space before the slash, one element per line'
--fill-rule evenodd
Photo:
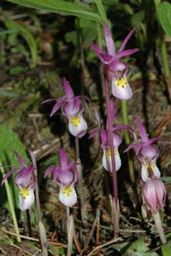
<path fill-rule="evenodd" d="M 14 172 L 17 172 L 15 176 L 15 183 L 19 188 L 19 207 L 22 211 L 26 211 L 30 209 L 35 201 L 34 190 L 36 187 L 36 176 L 34 174 L 34 167 L 28 166 L 23 158 L 14 151 L 16 157 L 18 158 L 19 162 L 21 163 L 21 167 L 16 167 L 13 170 L 8 172 L 4 179 L 2 180 L 2 184 L 4 184 L 5 180 L 8 179 L 10 175 Z"/>

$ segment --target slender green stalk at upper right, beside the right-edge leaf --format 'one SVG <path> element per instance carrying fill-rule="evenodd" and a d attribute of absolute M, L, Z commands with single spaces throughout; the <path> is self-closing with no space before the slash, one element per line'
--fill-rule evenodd
<path fill-rule="evenodd" d="M 164 75 L 166 78 L 166 84 L 167 84 L 167 90 L 169 93 L 169 98 L 171 99 L 170 70 L 169 70 L 169 64 L 168 64 L 168 58 L 167 58 L 166 45 L 165 45 L 165 41 L 164 41 L 164 32 L 163 32 L 163 29 L 162 29 L 160 21 L 159 21 L 159 3 L 160 3 L 160 1 L 154 0 L 156 19 L 157 19 L 157 23 L 158 23 L 158 32 L 159 32 L 159 37 L 160 37 L 160 46 L 161 46 L 161 55 L 162 55 L 162 61 L 163 61 L 163 67 L 164 67 Z"/>

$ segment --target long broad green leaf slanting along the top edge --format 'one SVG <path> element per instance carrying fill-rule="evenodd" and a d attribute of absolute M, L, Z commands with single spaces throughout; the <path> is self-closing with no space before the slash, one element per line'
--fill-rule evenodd
<path fill-rule="evenodd" d="M 82 17 L 90 19 L 97 22 L 102 22 L 99 14 L 95 12 L 88 11 L 91 10 L 89 6 L 83 6 L 81 4 L 73 4 L 62 0 L 8 0 L 9 2 L 31 7 L 51 13 L 63 14 L 63 15 L 74 15 L 77 17 Z"/>

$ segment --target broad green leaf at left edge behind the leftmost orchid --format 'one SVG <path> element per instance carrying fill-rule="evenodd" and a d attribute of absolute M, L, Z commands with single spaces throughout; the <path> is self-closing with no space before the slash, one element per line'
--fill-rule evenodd
<path fill-rule="evenodd" d="M 18 134 L 10 130 L 7 126 L 1 125 L 0 126 L 0 155 L 1 155 L 1 161 L 3 165 L 13 165 L 13 166 L 20 166 L 20 163 L 18 159 L 16 158 L 13 149 L 16 150 L 21 157 L 26 161 L 26 163 L 29 162 L 29 159 L 27 157 L 27 154 L 25 152 L 25 146 L 23 143 L 19 140 Z M 2 177 L 1 177 L 2 179 Z M 14 184 L 14 176 L 10 177 L 9 182 L 10 190 L 13 197 L 13 203 L 15 208 L 18 207 L 18 188 Z M 9 204 L 7 201 L 7 196 L 5 192 L 5 186 L 0 188 L 0 203 L 3 207 L 7 208 L 8 211 L 10 211 Z"/>

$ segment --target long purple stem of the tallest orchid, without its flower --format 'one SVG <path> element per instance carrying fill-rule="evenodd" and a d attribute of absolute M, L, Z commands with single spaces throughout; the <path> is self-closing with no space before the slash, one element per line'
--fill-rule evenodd
<path fill-rule="evenodd" d="M 114 144 L 113 144 L 113 124 L 111 122 L 111 111 L 110 111 L 110 98 L 109 98 L 109 88 L 108 88 L 108 65 L 104 65 L 104 84 L 105 84 L 105 99 L 106 99 L 106 108 L 107 108 L 107 120 L 108 120 L 108 133 L 109 133 L 109 146 L 111 151 L 111 160 L 112 160 L 112 180 L 113 180 L 113 203 L 116 211 L 118 209 L 118 184 L 117 184 L 117 175 L 116 175 L 116 164 L 115 164 L 115 155 L 114 155 Z M 114 215 L 114 237 L 119 235 L 119 214 Z"/>

